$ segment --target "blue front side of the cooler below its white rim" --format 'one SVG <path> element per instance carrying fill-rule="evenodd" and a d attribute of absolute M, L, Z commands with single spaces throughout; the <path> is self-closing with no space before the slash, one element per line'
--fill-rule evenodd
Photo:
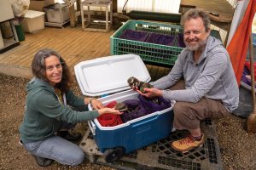
<path fill-rule="evenodd" d="M 173 111 L 151 116 L 114 130 L 96 127 L 94 139 L 100 151 L 122 147 L 125 153 L 166 138 L 172 132 Z"/>

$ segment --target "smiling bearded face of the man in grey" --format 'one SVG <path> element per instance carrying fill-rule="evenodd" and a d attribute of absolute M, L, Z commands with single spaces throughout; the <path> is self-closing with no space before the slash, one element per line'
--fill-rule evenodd
<path fill-rule="evenodd" d="M 197 51 L 207 44 L 210 31 L 206 31 L 201 18 L 190 19 L 184 22 L 183 37 L 186 47 Z"/>

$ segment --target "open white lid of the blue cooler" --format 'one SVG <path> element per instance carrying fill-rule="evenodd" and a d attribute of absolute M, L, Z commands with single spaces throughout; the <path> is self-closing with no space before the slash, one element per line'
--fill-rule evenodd
<path fill-rule="evenodd" d="M 88 96 L 113 94 L 129 89 L 129 77 L 137 77 L 143 82 L 151 79 L 143 60 L 135 54 L 82 61 L 74 66 L 74 71 L 82 94 Z"/>

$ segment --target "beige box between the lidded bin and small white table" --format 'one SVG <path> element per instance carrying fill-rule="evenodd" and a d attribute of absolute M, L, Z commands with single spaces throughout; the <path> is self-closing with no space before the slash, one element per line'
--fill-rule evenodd
<path fill-rule="evenodd" d="M 69 20 L 68 8 L 66 4 L 55 3 L 44 8 L 48 22 L 63 23 Z"/>

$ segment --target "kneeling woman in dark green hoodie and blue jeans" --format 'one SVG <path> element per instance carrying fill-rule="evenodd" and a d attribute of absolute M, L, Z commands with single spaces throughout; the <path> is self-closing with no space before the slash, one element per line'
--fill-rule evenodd
<path fill-rule="evenodd" d="M 26 111 L 20 126 L 20 142 L 41 167 L 53 161 L 79 165 L 84 161 L 84 152 L 66 140 L 78 139 L 68 133 L 68 128 L 105 113 L 121 113 L 103 108 L 95 98 L 75 96 L 70 90 L 73 81 L 69 68 L 61 55 L 52 49 L 38 51 L 32 60 L 32 73 L 34 77 L 26 85 Z M 88 104 L 96 110 L 88 111 Z M 74 111 L 68 105 L 84 107 L 86 111 Z"/>

